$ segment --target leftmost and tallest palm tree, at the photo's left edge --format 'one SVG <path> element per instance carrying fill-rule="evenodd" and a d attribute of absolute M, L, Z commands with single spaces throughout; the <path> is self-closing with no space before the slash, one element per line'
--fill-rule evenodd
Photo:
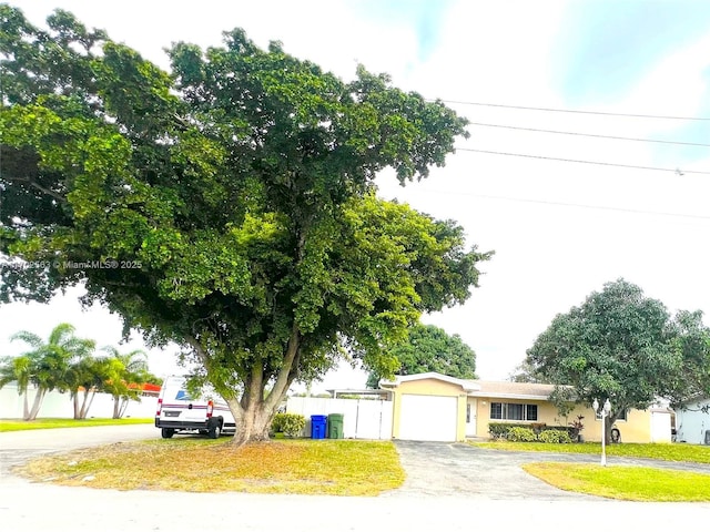
<path fill-rule="evenodd" d="M 59 324 L 52 329 L 48 341 L 44 342 L 38 335 L 28 330 L 21 330 L 10 337 L 11 341 L 21 340 L 32 349 L 12 359 L 11 367 L 14 379 L 18 380 L 18 391 L 24 393 L 26 411 L 23 418 L 31 421 L 37 418 L 42 400 L 48 391 L 71 390 L 72 362 L 88 357 L 94 350 L 95 342 L 74 336 L 74 327 L 71 324 Z M 10 362 L 8 362 L 10 364 Z M 0 385 L 9 382 L 10 371 L 4 366 Z M 27 411 L 27 392 L 29 385 L 37 387 L 32 408 Z M 0 386 L 1 387 L 1 386 Z"/>

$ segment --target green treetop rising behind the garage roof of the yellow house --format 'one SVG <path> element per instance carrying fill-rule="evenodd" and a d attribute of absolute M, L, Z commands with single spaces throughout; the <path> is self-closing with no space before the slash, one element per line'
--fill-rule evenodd
<path fill-rule="evenodd" d="M 458 335 L 449 335 L 434 325 L 417 324 L 402 344 L 393 346 L 397 358 L 396 375 L 436 371 L 459 379 L 476 378 L 476 354 Z M 376 388 L 382 376 L 371 371 L 367 386 Z"/>

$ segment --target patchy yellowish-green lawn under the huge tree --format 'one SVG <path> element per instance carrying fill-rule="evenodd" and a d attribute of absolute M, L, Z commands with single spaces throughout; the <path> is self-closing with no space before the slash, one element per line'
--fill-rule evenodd
<path fill-rule="evenodd" d="M 173 438 L 73 451 L 16 472 L 34 481 L 118 490 L 377 495 L 404 482 L 389 441 Z M 90 480 L 87 480 L 90 479 Z"/>

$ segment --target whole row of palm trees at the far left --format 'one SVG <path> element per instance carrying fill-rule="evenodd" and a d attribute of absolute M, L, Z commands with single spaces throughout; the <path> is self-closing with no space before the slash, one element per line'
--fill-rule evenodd
<path fill-rule="evenodd" d="M 97 352 L 97 342 L 78 338 L 74 327 L 59 324 L 47 340 L 28 330 L 10 337 L 20 340 L 30 349 L 17 357 L 0 358 L 0 388 L 9 382 L 18 383 L 18 393 L 23 396 L 26 421 L 37 418 L 48 391 L 69 392 L 74 407 L 74 419 L 85 419 L 97 392 L 113 396 L 113 418 L 125 412 L 130 400 L 141 395 L 146 382 L 158 383 L 148 370 L 145 354 L 141 350 L 120 352 L 108 346 Z M 30 407 L 28 390 L 36 387 Z"/>

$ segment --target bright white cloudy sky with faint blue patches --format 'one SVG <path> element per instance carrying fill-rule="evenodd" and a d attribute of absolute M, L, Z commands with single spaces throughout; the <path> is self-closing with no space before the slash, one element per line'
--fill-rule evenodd
<path fill-rule="evenodd" d="M 483 379 L 506 379 L 555 315 L 621 277 L 671 313 L 700 309 L 710 324 L 710 2 L 9 3 L 39 25 L 58 7 L 72 11 L 163 68 L 172 42 L 219 45 L 222 31 L 241 27 L 257 44 L 282 41 L 346 80 L 357 63 L 387 72 L 395 85 L 467 116 L 470 137 L 445 167 L 405 187 L 383 172 L 377 184 L 381 196 L 455 219 L 469 245 L 495 250 L 465 305 L 423 317 L 476 351 Z M 82 313 L 79 294 L 0 306 L 0 354 L 21 352 L 7 340 L 12 332 L 47 336 L 63 320 L 99 345 L 118 345 L 118 317 Z M 142 347 L 134 336 L 121 349 Z M 181 371 L 175 352 L 151 350 L 153 372 Z M 365 380 L 342 366 L 313 389 Z"/>

